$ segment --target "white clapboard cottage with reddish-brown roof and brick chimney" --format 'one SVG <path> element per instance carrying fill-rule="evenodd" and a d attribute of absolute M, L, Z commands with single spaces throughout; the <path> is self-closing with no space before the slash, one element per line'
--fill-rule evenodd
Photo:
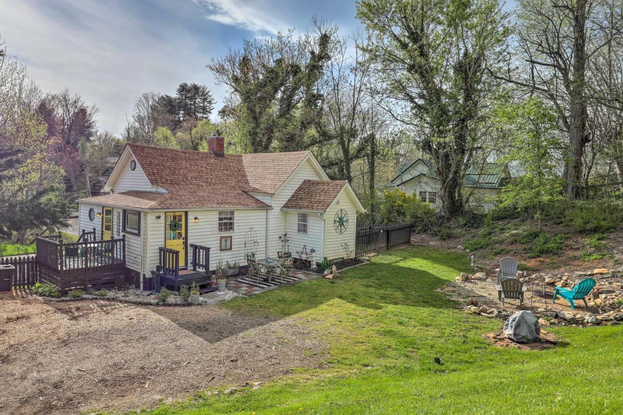
<path fill-rule="evenodd" d="M 127 267 L 143 276 L 160 247 L 179 250 L 181 269 L 193 265 L 191 244 L 210 247 L 214 270 L 219 260 L 246 264 L 246 252 L 277 257 L 286 232 L 294 257 L 303 246 L 318 261 L 353 256 L 364 207 L 348 182 L 330 181 L 310 151 L 223 148 L 216 136 L 208 152 L 126 145 L 103 188 L 110 194 L 78 199 L 80 229 L 125 235 Z"/>

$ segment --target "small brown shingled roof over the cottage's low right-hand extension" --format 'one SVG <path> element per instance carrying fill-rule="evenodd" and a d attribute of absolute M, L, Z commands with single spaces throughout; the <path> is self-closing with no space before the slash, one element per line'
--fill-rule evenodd
<path fill-rule="evenodd" d="M 346 183 L 346 180 L 303 180 L 290 199 L 283 204 L 283 209 L 325 212 Z"/>

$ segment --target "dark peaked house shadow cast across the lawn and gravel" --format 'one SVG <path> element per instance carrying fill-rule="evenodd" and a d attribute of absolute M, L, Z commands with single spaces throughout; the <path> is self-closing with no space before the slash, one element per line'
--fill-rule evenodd
<path fill-rule="evenodd" d="M 211 314 L 212 307 L 150 309 L 194 335 L 214 342 L 334 299 L 374 310 L 387 305 L 456 308 L 455 302 L 435 289 L 468 269 L 465 255 L 409 247 L 384 252 L 369 264 L 342 272 L 336 280 L 311 280 L 221 305 L 239 318 L 218 318 Z"/>

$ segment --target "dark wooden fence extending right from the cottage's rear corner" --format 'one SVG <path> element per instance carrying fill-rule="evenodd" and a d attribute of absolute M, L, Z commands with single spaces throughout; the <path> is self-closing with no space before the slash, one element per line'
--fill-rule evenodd
<path fill-rule="evenodd" d="M 356 231 L 355 255 L 407 246 L 411 243 L 411 224 L 360 227 Z"/>

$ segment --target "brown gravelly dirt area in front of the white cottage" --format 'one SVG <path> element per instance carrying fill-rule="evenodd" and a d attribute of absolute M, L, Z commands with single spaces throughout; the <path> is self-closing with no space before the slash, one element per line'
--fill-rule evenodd
<path fill-rule="evenodd" d="M 296 318 L 241 317 L 218 305 L 50 303 L 1 293 L 0 323 L 0 413 L 140 409 L 318 367 L 325 349 Z"/>

